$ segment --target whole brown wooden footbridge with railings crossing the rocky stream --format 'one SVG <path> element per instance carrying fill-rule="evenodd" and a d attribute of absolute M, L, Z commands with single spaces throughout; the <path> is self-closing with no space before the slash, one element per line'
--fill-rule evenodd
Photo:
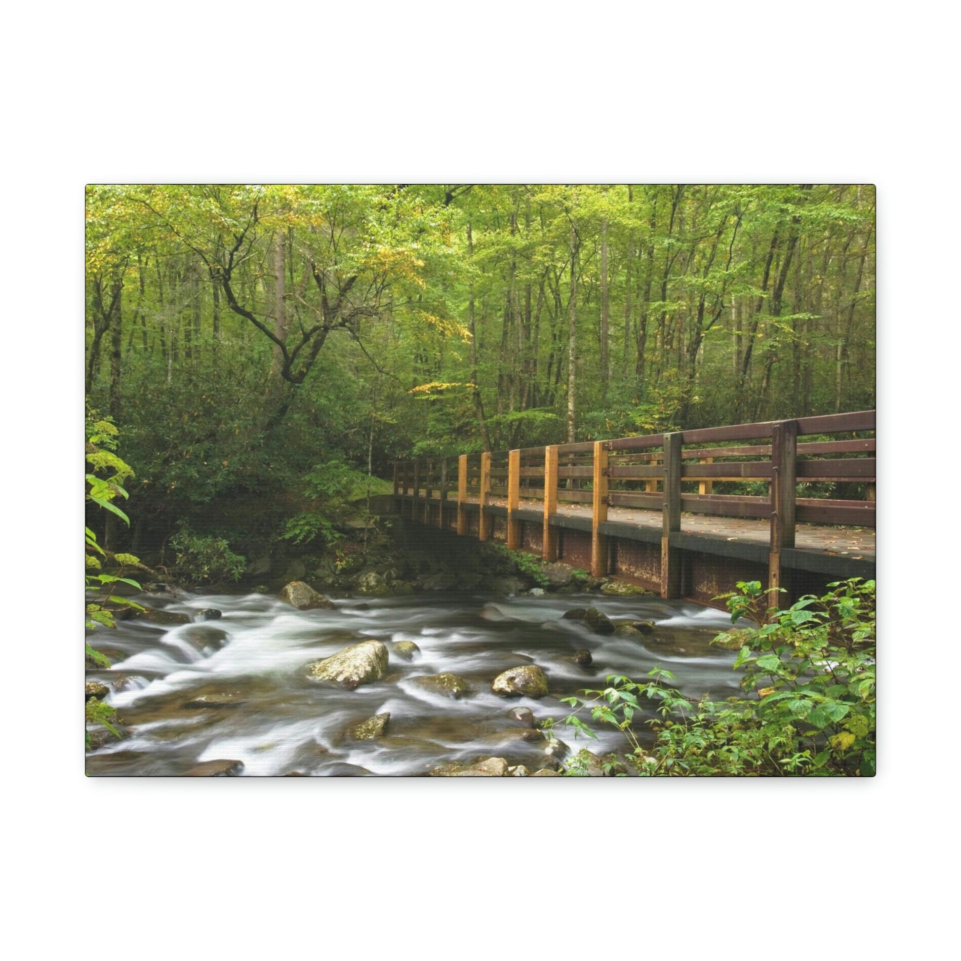
<path fill-rule="evenodd" d="M 745 481 L 766 496 L 714 491 Z M 805 497 L 818 481 L 859 499 Z M 398 461 L 391 501 L 413 521 L 664 598 L 711 604 L 760 580 L 783 587 L 784 604 L 875 577 L 875 411 Z"/>

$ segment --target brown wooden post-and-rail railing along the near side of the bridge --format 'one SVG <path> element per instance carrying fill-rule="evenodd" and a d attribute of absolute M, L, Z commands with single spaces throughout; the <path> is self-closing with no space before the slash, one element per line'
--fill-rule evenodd
<path fill-rule="evenodd" d="M 875 411 L 826 414 L 794 420 L 735 424 L 729 427 L 674 431 L 612 440 L 485 452 L 446 458 L 398 461 L 395 495 L 424 501 L 424 519 L 433 500 L 446 502 L 456 490 L 457 531 L 467 532 L 463 505 L 479 505 L 478 535 L 492 534 L 485 507 L 505 502 L 507 546 L 520 546 L 516 512 L 533 502 L 543 510 L 542 556 L 556 559 L 558 505 L 591 510 L 591 567 L 602 576 L 606 544 L 601 525 L 610 507 L 659 511 L 661 518 L 662 593 L 675 596 L 679 566 L 671 533 L 680 530 L 681 511 L 770 522 L 770 585 L 780 583 L 781 553 L 795 546 L 801 523 L 853 527 L 875 526 Z M 843 434 L 844 436 L 837 436 Z M 799 437 L 824 436 L 810 442 Z M 766 488 L 757 494 L 715 491 L 718 483 Z M 812 483 L 864 485 L 863 500 L 805 497 Z M 415 508 L 416 509 L 416 508 Z M 446 515 L 448 518 L 449 514 Z M 444 524 L 443 504 L 437 523 Z M 638 523 L 642 515 L 621 515 Z"/>

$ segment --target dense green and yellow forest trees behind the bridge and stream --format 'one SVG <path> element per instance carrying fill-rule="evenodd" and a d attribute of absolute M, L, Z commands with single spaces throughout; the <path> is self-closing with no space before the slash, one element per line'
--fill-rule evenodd
<path fill-rule="evenodd" d="M 875 190 L 90 185 L 86 394 L 155 559 L 396 459 L 871 408 Z"/>

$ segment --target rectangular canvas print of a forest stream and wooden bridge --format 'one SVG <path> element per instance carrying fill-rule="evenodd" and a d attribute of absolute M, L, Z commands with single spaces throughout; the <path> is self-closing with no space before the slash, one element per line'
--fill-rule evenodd
<path fill-rule="evenodd" d="M 88 185 L 87 776 L 873 776 L 875 187 Z"/>

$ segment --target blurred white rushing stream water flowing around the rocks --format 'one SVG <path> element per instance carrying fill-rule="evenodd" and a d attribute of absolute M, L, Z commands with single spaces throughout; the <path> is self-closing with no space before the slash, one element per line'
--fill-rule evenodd
<path fill-rule="evenodd" d="M 509 716 L 512 707 L 528 707 L 538 720 L 560 719 L 569 709 L 558 698 L 603 687 L 610 674 L 642 680 L 656 665 L 671 671 L 690 698 L 707 693 L 723 699 L 738 691 L 734 653 L 708 645 L 729 618 L 687 602 L 443 593 L 298 611 L 262 594 L 136 600 L 191 619 L 213 607 L 222 617 L 174 627 L 118 621 L 115 631 L 89 638 L 111 654 L 113 665 L 88 672 L 87 679 L 111 685 L 107 701 L 129 736 L 88 752 L 88 775 L 183 775 L 200 762 L 230 759 L 243 762 L 244 776 L 409 776 L 482 756 L 504 757 L 532 773 L 543 766 L 547 745 L 525 739 L 530 728 Z M 561 619 L 566 610 L 587 606 L 615 623 L 651 620 L 656 627 L 641 640 L 599 635 L 580 621 Z M 306 678 L 309 661 L 368 639 L 381 640 L 390 653 L 381 680 L 346 691 Z M 401 641 L 413 641 L 420 653 L 404 660 L 394 648 Z M 593 655 L 589 667 L 571 660 L 583 649 Z M 546 673 L 548 696 L 507 700 L 491 692 L 498 674 L 530 663 Z M 452 700 L 414 679 L 442 672 L 465 678 L 470 693 Z M 217 697 L 197 701 L 210 695 Z M 390 721 L 382 737 L 355 741 L 347 735 L 349 727 L 385 711 Z M 575 740 L 563 727 L 556 734 L 572 751 L 627 747 L 619 731 L 591 727 L 599 741 Z M 650 741 L 647 727 L 638 730 L 642 743 Z"/>

